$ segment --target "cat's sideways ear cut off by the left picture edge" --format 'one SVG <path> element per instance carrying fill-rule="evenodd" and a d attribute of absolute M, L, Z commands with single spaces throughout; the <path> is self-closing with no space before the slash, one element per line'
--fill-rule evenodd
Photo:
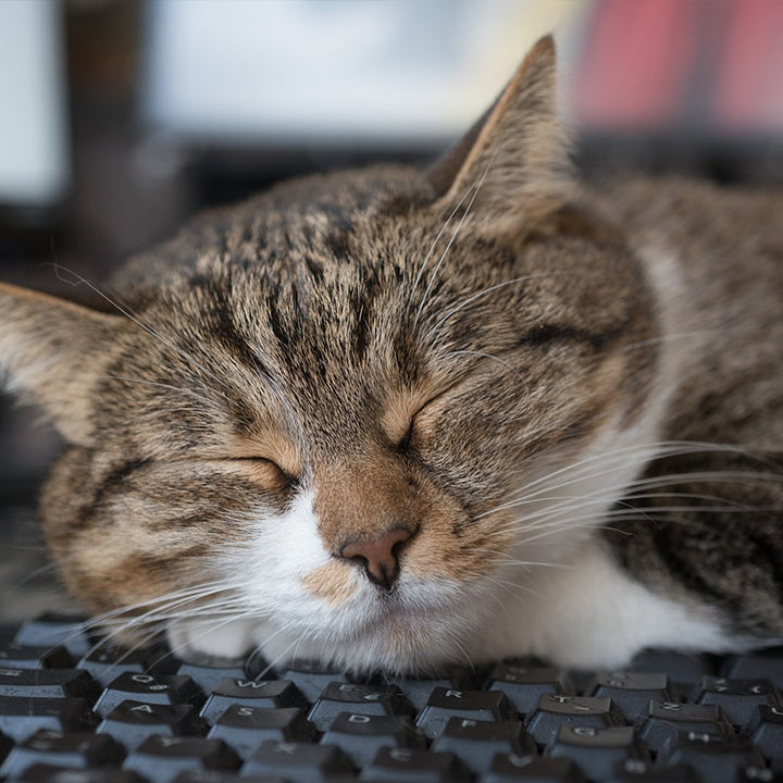
<path fill-rule="evenodd" d="M 124 319 L 0 283 L 0 381 L 40 405 L 71 443 L 92 445 L 90 391 Z"/>

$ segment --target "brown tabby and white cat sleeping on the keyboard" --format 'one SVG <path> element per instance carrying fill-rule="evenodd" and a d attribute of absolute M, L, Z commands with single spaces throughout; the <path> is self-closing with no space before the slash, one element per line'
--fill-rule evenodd
<path fill-rule="evenodd" d="M 555 82 L 546 38 L 430 169 L 206 214 L 103 307 L 0 286 L 110 639 L 388 671 L 783 639 L 783 194 L 579 185 Z"/>

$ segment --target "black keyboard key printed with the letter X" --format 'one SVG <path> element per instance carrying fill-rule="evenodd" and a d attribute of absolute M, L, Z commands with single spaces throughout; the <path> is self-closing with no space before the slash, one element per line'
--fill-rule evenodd
<path fill-rule="evenodd" d="M 262 743 L 241 769 L 243 776 L 278 775 L 290 783 L 316 783 L 352 773 L 350 759 L 334 745 L 270 741 Z"/>

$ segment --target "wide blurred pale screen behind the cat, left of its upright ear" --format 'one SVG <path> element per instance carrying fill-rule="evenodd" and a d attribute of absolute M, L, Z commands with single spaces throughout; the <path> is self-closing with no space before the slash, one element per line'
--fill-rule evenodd
<path fill-rule="evenodd" d="M 573 0 L 166 0 L 148 7 L 145 116 L 208 144 L 439 145 Z"/>

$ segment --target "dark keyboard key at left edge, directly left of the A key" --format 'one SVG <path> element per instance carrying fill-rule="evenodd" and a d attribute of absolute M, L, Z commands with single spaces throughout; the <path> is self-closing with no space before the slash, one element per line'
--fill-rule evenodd
<path fill-rule="evenodd" d="M 83 698 L 25 698 L 0 696 L 0 732 L 22 742 L 39 729 L 79 732 L 97 720 Z"/>

